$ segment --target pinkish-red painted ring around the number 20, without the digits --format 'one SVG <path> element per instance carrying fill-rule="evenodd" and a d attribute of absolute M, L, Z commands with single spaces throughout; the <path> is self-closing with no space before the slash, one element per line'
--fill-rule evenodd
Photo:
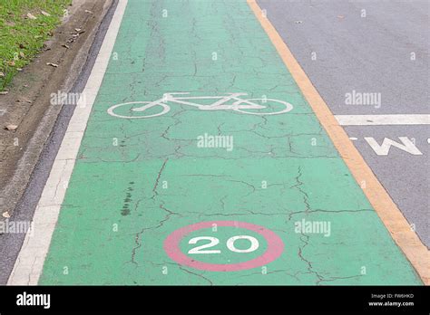
<path fill-rule="evenodd" d="M 217 224 L 218 226 L 241 227 L 254 231 L 266 239 L 268 248 L 266 252 L 259 257 L 251 259 L 248 262 L 238 263 L 199 262 L 191 259 L 189 256 L 181 252 L 180 242 L 185 235 L 200 229 L 210 228 L 212 227 L 212 224 Z M 263 266 L 269 262 L 273 262 L 284 251 L 284 243 L 277 234 L 273 233 L 264 226 L 238 221 L 210 221 L 187 225 L 176 231 L 173 231 L 164 241 L 164 251 L 166 251 L 173 261 L 178 262 L 181 265 L 189 266 L 199 270 L 207 270 L 210 272 L 237 272 L 239 270 L 252 269 Z"/>

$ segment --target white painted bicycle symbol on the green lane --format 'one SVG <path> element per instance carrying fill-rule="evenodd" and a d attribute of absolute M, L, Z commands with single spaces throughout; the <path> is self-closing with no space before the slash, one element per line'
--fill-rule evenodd
<path fill-rule="evenodd" d="M 161 116 L 169 112 L 171 107 L 167 103 L 177 103 L 197 107 L 199 110 L 234 110 L 250 115 L 279 115 L 293 109 L 293 106 L 284 100 L 273 99 L 241 99 L 240 96 L 247 93 L 227 93 L 224 96 L 188 96 L 176 97 L 176 95 L 186 95 L 190 92 L 165 93 L 160 100 L 153 101 L 131 101 L 113 105 L 107 112 L 109 115 L 122 119 L 147 119 Z M 211 104 L 199 104 L 194 100 L 215 100 Z M 260 104 L 259 104 L 259 103 Z M 159 108 L 160 111 L 149 113 L 151 108 Z M 273 110 L 275 111 L 265 111 Z M 249 111 L 247 111 L 249 110 Z M 253 111 L 258 110 L 258 111 Z M 146 111 L 146 113 L 145 113 Z"/>

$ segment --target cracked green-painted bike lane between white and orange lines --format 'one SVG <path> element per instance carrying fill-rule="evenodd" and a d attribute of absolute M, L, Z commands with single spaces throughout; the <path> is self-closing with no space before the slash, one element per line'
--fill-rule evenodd
<path fill-rule="evenodd" d="M 293 109 L 107 112 L 173 92 Z M 39 284 L 422 282 L 245 1 L 130 0 Z"/>

